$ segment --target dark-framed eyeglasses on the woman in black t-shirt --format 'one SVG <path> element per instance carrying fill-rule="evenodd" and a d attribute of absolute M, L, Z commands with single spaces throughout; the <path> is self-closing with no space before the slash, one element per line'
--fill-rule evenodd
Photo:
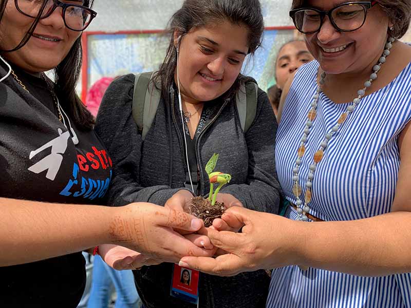
<path fill-rule="evenodd" d="M 45 0 L 44 10 L 40 19 L 50 16 L 58 7 L 62 8 L 61 15 L 67 28 L 73 31 L 83 31 L 91 23 L 97 12 L 77 4 L 68 4 L 59 0 Z M 35 18 L 43 6 L 40 0 L 14 0 L 17 10 L 23 15 Z"/>

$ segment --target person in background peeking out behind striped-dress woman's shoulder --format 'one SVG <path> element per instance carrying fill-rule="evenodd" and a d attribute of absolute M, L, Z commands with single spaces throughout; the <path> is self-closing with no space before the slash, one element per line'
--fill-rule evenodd
<path fill-rule="evenodd" d="M 284 85 L 288 78 L 290 78 L 298 67 L 313 59 L 314 57 L 308 51 L 304 41 L 291 41 L 285 43 L 278 50 L 274 71 L 276 84 L 267 90 L 268 98 L 270 99 L 276 118 L 278 117 L 278 105 L 281 93 L 283 92 Z"/>

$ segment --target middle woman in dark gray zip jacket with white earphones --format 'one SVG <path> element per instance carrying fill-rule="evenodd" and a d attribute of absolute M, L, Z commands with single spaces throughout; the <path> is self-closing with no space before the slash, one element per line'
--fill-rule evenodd
<path fill-rule="evenodd" d="M 258 89 L 256 101 L 247 101 L 256 104 L 256 114 L 246 131 L 236 104 L 241 85 L 253 83 L 240 70 L 261 42 L 259 1 L 186 0 L 170 30 L 165 60 L 152 78 L 161 99 L 144 139 L 132 114 L 135 76 L 114 81 L 103 98 L 96 131 L 114 164 L 109 203 L 144 201 L 186 210 L 193 196 L 208 193 L 204 167 L 216 152 L 216 169 L 232 176 L 219 201 L 226 208 L 277 213 L 277 124 L 267 94 Z M 213 223 L 216 229 L 226 227 L 222 224 L 220 219 Z M 194 306 L 170 295 L 174 266 L 162 263 L 134 271 L 147 308 Z M 265 271 L 226 278 L 201 273 L 199 306 L 264 307 L 269 281 Z"/>

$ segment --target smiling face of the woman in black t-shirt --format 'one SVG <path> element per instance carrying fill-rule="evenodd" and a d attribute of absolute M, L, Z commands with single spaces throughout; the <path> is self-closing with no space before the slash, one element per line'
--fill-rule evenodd
<path fill-rule="evenodd" d="M 83 4 L 82 1 L 63 1 Z M 60 64 L 70 51 L 81 32 L 65 27 L 57 8 L 47 18 L 39 21 L 29 41 L 22 48 L 6 52 L 3 56 L 28 72 L 47 71 Z M 34 19 L 20 13 L 14 1 L 8 1 L 0 23 L 0 46 L 4 50 L 15 48 L 29 30 Z"/>

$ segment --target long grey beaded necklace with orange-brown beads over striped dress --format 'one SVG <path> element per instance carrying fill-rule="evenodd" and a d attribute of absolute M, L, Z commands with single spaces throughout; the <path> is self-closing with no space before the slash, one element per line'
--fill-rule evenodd
<path fill-rule="evenodd" d="M 294 183 L 293 186 L 293 194 L 296 197 L 296 203 L 295 205 L 297 206 L 297 213 L 298 213 L 298 217 L 296 218 L 296 220 L 298 221 L 308 221 L 308 217 L 306 214 L 308 214 L 310 212 L 310 202 L 312 199 L 312 192 L 311 192 L 311 188 L 312 188 L 312 181 L 314 179 L 314 174 L 315 174 L 315 170 L 317 167 L 317 164 L 319 164 L 321 162 L 321 160 L 324 157 L 324 153 L 325 153 L 325 149 L 327 148 L 328 142 L 331 140 L 331 138 L 334 136 L 334 134 L 336 134 L 341 126 L 345 123 L 345 121 L 348 118 L 348 115 L 350 113 L 352 113 L 356 107 L 358 106 L 358 104 L 360 104 L 361 99 L 364 97 L 365 95 L 365 91 L 367 88 L 369 88 L 371 86 L 371 83 L 377 79 L 377 74 L 381 69 L 381 65 L 383 63 L 385 63 L 386 61 L 386 56 L 389 55 L 390 53 L 390 49 L 391 47 L 393 47 L 393 42 L 395 41 L 395 38 L 393 37 L 389 37 L 387 43 L 385 44 L 385 49 L 378 61 L 378 64 L 375 65 L 372 70 L 373 72 L 370 75 L 369 80 L 367 80 L 364 83 L 364 88 L 358 90 L 358 97 L 355 98 L 352 103 L 347 106 L 347 109 L 345 110 L 345 112 L 343 112 L 340 115 L 340 118 L 337 121 L 337 124 L 335 124 L 332 128 L 331 131 L 329 131 L 328 133 L 325 134 L 324 136 L 324 140 L 320 143 L 320 148 L 314 153 L 314 157 L 313 157 L 313 163 L 309 166 L 310 171 L 308 172 L 308 176 L 307 176 L 307 182 L 306 182 L 306 191 L 305 191 L 305 195 L 304 195 L 304 202 L 303 200 L 301 200 L 300 196 L 302 195 L 302 187 L 300 185 L 300 176 L 298 176 L 298 174 L 300 173 L 300 166 L 302 164 L 302 159 L 304 157 L 304 153 L 306 151 L 306 142 L 308 139 L 308 135 L 310 133 L 310 129 L 313 125 L 313 122 L 316 118 L 317 115 L 317 103 L 320 97 L 320 93 L 322 92 L 322 85 L 324 85 L 325 83 L 325 76 L 326 73 L 323 72 L 321 74 L 321 79 L 320 79 L 320 84 L 317 85 L 317 90 L 313 96 L 313 102 L 311 103 L 311 109 L 307 114 L 307 123 L 306 126 L 304 128 L 304 133 L 303 133 L 303 137 L 301 138 L 301 144 L 300 147 L 298 147 L 297 150 L 297 159 L 295 160 L 295 166 L 292 170 L 293 172 L 293 177 L 292 177 L 292 181 Z"/>

